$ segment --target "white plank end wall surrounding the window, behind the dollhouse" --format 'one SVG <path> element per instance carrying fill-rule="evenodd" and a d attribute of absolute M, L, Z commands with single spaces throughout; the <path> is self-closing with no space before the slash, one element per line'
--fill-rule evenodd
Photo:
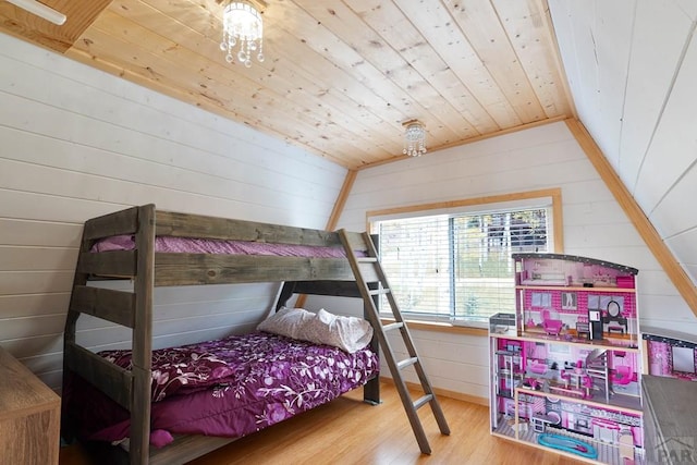
<path fill-rule="evenodd" d="M 564 123 L 362 170 L 338 227 L 365 229 L 369 210 L 550 187 L 562 188 L 564 253 L 638 268 L 641 321 L 680 325 L 697 332 L 689 307 Z M 310 297 L 307 305 L 360 311 L 348 299 Z M 412 332 L 436 388 L 488 396 L 485 336 L 421 329 Z"/>

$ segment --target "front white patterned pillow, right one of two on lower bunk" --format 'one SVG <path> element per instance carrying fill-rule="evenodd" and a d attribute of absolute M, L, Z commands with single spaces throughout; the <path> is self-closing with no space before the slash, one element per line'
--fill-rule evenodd
<path fill-rule="evenodd" d="M 332 315 L 323 308 L 315 317 L 304 321 L 299 339 L 316 344 L 327 344 L 348 353 L 362 350 L 370 343 L 372 327 L 362 318 Z"/>

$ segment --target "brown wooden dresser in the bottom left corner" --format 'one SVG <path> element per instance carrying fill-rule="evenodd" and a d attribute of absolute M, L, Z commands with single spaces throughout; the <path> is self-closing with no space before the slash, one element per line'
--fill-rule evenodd
<path fill-rule="evenodd" d="M 0 347 L 0 465 L 58 464 L 61 400 Z"/>

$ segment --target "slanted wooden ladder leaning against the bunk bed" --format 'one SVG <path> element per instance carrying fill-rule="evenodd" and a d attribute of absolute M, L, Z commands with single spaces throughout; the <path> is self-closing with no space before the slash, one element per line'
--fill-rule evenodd
<path fill-rule="evenodd" d="M 380 346 L 384 353 L 384 360 L 392 374 L 392 379 L 394 380 L 396 390 L 400 393 L 404 411 L 406 412 L 406 416 L 408 417 L 412 429 L 414 430 L 414 436 L 416 436 L 416 441 L 418 442 L 419 449 L 423 453 L 430 454 L 431 449 L 428 444 L 426 433 L 424 432 L 424 427 L 418 417 L 417 409 L 429 404 L 436 421 L 438 423 L 438 427 L 440 428 L 440 432 L 442 435 L 450 435 L 450 428 L 448 427 L 448 421 L 445 420 L 445 416 L 443 415 L 443 411 L 440 407 L 440 403 L 436 397 L 436 393 L 433 392 L 430 381 L 426 376 L 420 358 L 416 353 L 412 335 L 409 334 L 406 322 L 402 317 L 396 299 L 390 291 L 387 277 L 384 276 L 384 270 L 378 259 L 376 247 L 370 235 L 367 232 L 363 233 L 362 236 L 367 246 L 367 256 L 356 257 L 353 253 L 354 246 L 351 243 L 348 233 L 342 229 L 339 231 L 339 236 L 341 237 L 341 242 L 346 250 L 346 257 L 348 258 L 348 262 L 351 264 L 351 268 L 356 278 L 360 295 L 365 301 L 366 307 L 369 308 L 367 311 L 368 317 L 370 318 L 372 328 L 376 331 L 378 341 L 380 342 Z M 380 311 L 377 306 L 380 295 L 384 295 L 387 297 L 394 317 L 394 322 L 382 325 Z M 404 341 L 404 345 L 408 354 L 408 357 L 401 362 L 395 359 L 394 351 L 392 350 L 392 345 L 387 336 L 387 332 L 394 330 L 399 330 L 402 335 L 402 340 Z M 424 391 L 424 395 L 416 401 L 412 400 L 406 382 L 402 377 L 401 371 L 407 367 L 414 367 Z"/>

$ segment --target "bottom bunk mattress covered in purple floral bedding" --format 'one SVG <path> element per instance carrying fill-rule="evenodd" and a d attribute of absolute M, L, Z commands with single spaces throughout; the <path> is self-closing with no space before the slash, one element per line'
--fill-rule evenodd
<path fill-rule="evenodd" d="M 130 351 L 100 353 L 131 368 Z M 150 442 L 172 435 L 239 438 L 329 402 L 377 376 L 368 347 L 353 354 L 262 331 L 152 351 Z M 83 440 L 127 438 L 126 409 L 73 376 L 64 407 Z"/>

